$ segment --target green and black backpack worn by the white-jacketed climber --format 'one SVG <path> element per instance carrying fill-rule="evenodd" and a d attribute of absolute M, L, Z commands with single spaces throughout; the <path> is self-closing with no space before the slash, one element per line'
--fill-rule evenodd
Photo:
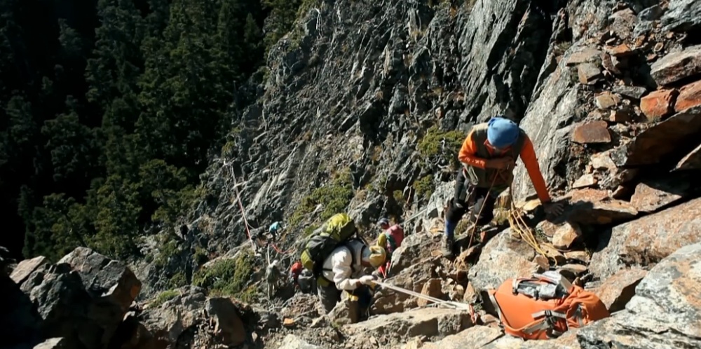
<path fill-rule="evenodd" d="M 351 216 L 345 213 L 334 214 L 307 238 L 300 257 L 302 266 L 319 277 L 324 260 L 336 247 L 351 240 L 356 231 L 358 229 Z"/>

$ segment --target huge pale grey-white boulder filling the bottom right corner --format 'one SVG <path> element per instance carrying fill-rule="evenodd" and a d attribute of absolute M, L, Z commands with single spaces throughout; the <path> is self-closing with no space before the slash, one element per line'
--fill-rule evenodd
<path fill-rule="evenodd" d="M 625 348 L 701 348 L 700 259 L 698 242 L 662 259 L 636 287 L 625 310 L 578 331 L 583 348 L 607 343 L 625 343 Z"/>

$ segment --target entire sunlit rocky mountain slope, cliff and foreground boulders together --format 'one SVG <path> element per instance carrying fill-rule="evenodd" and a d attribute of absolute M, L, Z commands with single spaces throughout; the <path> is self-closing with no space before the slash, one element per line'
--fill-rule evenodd
<path fill-rule="evenodd" d="M 241 88 L 257 102 L 238 106 L 182 228 L 143 246 L 154 259 L 127 268 L 77 249 L 3 279 L 22 299 L 9 304 L 36 310 L 16 323 L 32 329 L 14 331 L 31 343 L 18 348 L 52 337 L 86 349 L 697 348 L 700 18 L 697 0 L 315 2 Z M 566 212 L 543 219 L 519 165 L 510 196 L 538 251 L 502 218 L 443 259 L 434 234 L 457 147 L 494 114 L 533 139 Z M 381 216 L 418 214 L 387 282 L 475 303 L 479 320 L 389 289 L 369 320 L 342 327 L 318 317 L 313 296 L 268 301 L 247 224 L 285 222 L 270 253 L 289 266 L 299 238 L 337 210 L 368 237 Z M 547 269 L 613 315 L 554 341 L 503 336 L 484 291 Z"/>

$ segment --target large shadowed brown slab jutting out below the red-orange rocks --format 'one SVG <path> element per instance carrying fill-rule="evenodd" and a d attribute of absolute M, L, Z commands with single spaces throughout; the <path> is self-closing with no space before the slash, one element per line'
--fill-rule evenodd
<path fill-rule="evenodd" d="M 679 146 L 701 132 L 701 106 L 670 116 L 667 120 L 641 132 L 627 145 L 615 163 L 628 166 L 652 165 L 679 151 Z"/>

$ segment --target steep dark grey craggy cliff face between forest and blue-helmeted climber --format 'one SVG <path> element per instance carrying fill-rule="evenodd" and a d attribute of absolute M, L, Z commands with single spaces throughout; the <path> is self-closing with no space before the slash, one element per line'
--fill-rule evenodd
<path fill-rule="evenodd" d="M 291 219 L 305 195 L 343 171 L 363 192 L 349 208 L 362 224 L 428 200 L 411 185 L 447 169 L 449 159 L 422 166 L 415 146 L 426 125 L 465 132 L 493 114 L 520 118 L 556 11 L 531 1 L 481 0 L 474 6 L 322 1 L 311 8 L 271 50 L 266 93 L 240 115 L 240 132 L 223 154 L 233 158 L 248 221 Z M 220 253 L 246 236 L 236 205 L 229 207 L 236 195 L 224 160 L 206 175 L 216 194 L 195 214 L 209 224 L 190 224 L 194 235 L 207 237 L 200 242 Z M 435 179 L 444 177 L 452 175 Z"/>

